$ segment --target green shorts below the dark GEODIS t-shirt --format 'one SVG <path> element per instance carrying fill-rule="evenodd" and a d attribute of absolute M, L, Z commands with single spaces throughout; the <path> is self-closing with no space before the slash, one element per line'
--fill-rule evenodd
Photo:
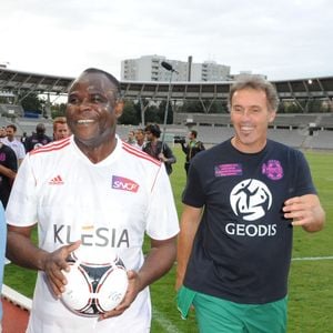
<path fill-rule="evenodd" d="M 239 304 L 182 286 L 178 309 L 186 319 L 191 305 L 201 333 L 285 333 L 287 297 L 266 304 Z"/>

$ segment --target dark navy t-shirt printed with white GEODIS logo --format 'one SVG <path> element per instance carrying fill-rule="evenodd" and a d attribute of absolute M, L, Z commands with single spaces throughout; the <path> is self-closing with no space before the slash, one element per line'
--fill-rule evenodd
<path fill-rule="evenodd" d="M 316 191 L 303 154 L 278 142 L 248 154 L 229 140 L 198 154 L 183 203 L 204 211 L 184 285 L 245 304 L 284 297 L 292 226 L 282 208 L 309 193 Z"/>

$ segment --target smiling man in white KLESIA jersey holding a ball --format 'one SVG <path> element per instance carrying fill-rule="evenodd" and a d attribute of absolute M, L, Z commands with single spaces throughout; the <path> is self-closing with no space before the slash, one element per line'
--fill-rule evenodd
<path fill-rule="evenodd" d="M 8 258 L 39 271 L 28 332 L 150 331 L 149 284 L 174 262 L 179 223 L 161 162 L 115 135 L 119 90 L 111 74 L 85 70 L 68 97 L 73 135 L 30 152 L 19 170 L 7 210 Z M 30 240 L 37 221 L 39 246 Z M 151 250 L 143 256 L 144 234 Z M 61 270 L 78 248 L 92 258 L 115 253 L 128 270 L 124 300 L 99 317 L 77 315 L 60 300 Z"/>

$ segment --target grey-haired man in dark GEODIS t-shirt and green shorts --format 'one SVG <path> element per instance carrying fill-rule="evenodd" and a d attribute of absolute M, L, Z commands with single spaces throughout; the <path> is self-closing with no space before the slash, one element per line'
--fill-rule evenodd
<path fill-rule="evenodd" d="M 286 332 L 293 228 L 325 213 L 302 152 L 266 138 L 274 87 L 246 77 L 229 103 L 234 137 L 193 159 L 183 193 L 179 309 L 201 332 Z"/>

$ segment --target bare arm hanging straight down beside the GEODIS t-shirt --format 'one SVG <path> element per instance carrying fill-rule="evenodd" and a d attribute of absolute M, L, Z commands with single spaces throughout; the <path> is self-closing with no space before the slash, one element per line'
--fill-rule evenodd
<path fill-rule="evenodd" d="M 188 262 L 191 255 L 194 236 L 201 220 L 202 208 L 194 208 L 184 204 L 181 216 L 181 231 L 178 236 L 176 251 L 176 282 L 179 290 L 183 284 Z"/>

